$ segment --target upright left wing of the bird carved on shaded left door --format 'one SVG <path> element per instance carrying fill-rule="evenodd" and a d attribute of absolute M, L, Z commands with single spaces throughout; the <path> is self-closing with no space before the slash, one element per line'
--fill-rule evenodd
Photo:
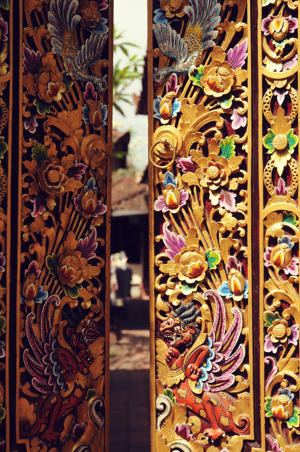
<path fill-rule="evenodd" d="M 78 0 L 51 0 L 47 28 L 51 35 L 52 52 L 62 55 L 66 33 L 76 38 L 76 25 L 81 17 L 76 13 Z"/>

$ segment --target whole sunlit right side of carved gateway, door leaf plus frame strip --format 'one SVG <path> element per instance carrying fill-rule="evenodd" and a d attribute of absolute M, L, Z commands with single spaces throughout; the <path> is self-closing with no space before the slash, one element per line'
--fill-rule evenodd
<path fill-rule="evenodd" d="M 148 6 L 151 450 L 299 450 L 298 2 Z"/>

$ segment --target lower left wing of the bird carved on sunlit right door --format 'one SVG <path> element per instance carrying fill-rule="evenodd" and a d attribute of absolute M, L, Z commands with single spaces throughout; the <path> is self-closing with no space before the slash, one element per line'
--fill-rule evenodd
<path fill-rule="evenodd" d="M 153 31 L 159 49 L 164 55 L 174 58 L 177 63 L 187 59 L 188 47 L 180 34 L 173 30 L 170 25 L 153 25 Z"/>

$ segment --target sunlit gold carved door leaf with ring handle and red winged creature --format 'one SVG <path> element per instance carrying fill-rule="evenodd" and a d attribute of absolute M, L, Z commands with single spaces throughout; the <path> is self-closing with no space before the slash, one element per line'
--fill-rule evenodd
<path fill-rule="evenodd" d="M 254 439 L 250 1 L 156 3 L 152 450 L 238 452 Z"/>

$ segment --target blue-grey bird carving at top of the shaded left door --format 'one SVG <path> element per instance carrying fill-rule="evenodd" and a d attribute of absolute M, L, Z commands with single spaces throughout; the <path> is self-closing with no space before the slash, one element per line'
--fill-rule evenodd
<path fill-rule="evenodd" d="M 81 48 L 76 35 L 80 15 L 78 0 L 51 0 L 47 28 L 51 35 L 52 52 L 61 55 L 67 75 L 72 80 L 90 81 L 103 93 L 108 88 L 107 75 L 88 73 L 89 66 L 100 60 L 108 34 L 91 34 Z"/>

